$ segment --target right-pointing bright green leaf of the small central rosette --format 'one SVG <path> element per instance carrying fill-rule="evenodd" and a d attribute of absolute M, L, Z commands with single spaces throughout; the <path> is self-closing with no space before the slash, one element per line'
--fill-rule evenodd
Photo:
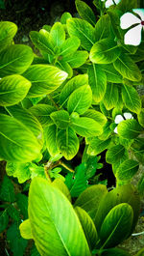
<path fill-rule="evenodd" d="M 72 121 L 71 128 L 83 137 L 98 136 L 103 132 L 102 126 L 88 117 L 77 118 Z"/>

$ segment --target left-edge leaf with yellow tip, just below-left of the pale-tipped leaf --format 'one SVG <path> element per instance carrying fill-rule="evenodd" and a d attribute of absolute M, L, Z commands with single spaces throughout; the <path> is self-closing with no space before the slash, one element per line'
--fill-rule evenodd
<path fill-rule="evenodd" d="M 0 80 L 0 105 L 14 105 L 23 100 L 31 82 L 19 74 L 8 75 Z"/>

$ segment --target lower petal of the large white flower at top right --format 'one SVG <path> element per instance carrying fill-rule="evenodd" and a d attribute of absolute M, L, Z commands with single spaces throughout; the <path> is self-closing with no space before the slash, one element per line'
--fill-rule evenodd
<path fill-rule="evenodd" d="M 125 38 L 124 38 L 125 44 L 131 44 L 134 46 L 139 45 L 141 43 L 141 30 L 142 30 L 141 24 L 130 29 L 125 34 Z"/>

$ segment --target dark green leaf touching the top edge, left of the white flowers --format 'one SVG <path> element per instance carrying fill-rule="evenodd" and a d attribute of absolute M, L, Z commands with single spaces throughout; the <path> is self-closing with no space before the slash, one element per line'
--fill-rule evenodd
<path fill-rule="evenodd" d="M 76 9 L 84 20 L 88 21 L 91 25 L 95 25 L 95 14 L 93 13 L 92 9 L 86 3 L 84 3 L 84 1 L 76 0 Z"/>

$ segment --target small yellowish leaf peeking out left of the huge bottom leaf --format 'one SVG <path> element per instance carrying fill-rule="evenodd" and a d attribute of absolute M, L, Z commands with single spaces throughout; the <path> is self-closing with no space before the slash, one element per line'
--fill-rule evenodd
<path fill-rule="evenodd" d="M 20 235 L 23 239 L 25 240 L 31 240 L 33 239 L 32 236 L 32 229 L 31 229 L 31 223 L 30 223 L 30 219 L 26 219 L 24 220 L 20 226 L 19 226 L 19 230 L 20 230 Z"/>

